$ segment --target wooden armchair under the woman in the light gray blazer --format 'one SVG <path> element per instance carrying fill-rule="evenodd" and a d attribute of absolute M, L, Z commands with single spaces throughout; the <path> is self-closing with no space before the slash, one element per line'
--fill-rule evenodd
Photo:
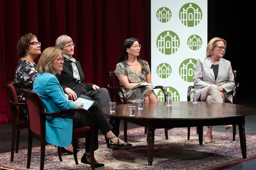
<path fill-rule="evenodd" d="M 234 74 L 234 81 L 235 81 L 235 86 L 233 88 L 233 91 L 230 92 L 230 94 L 232 94 L 233 96 L 233 104 L 236 103 L 236 88 L 238 88 L 239 86 L 239 82 L 236 81 L 236 70 L 232 70 L 233 74 Z M 191 91 L 192 89 L 194 89 L 195 86 L 190 85 L 188 88 L 188 93 L 187 93 L 187 101 L 190 102 L 191 99 Z M 200 99 L 198 99 L 198 101 L 200 101 Z M 230 102 L 225 102 L 225 103 L 230 103 Z M 232 103 L 230 103 L 232 104 Z M 196 131 L 198 133 L 198 127 L 196 127 Z M 190 135 L 190 127 L 188 127 L 188 140 L 189 140 L 189 135 Z M 233 125 L 233 141 L 236 140 L 236 125 Z"/>

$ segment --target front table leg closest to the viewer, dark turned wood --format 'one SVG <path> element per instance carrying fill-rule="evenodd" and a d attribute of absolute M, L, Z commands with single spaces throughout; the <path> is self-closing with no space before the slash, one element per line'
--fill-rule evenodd
<path fill-rule="evenodd" d="M 155 128 L 148 127 L 148 165 L 152 166 L 154 155 L 154 131 Z"/>

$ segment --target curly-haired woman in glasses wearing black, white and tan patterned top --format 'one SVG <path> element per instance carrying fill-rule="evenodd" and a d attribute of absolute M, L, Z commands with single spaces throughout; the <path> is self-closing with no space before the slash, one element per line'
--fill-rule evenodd
<path fill-rule="evenodd" d="M 17 44 L 17 55 L 20 58 L 15 70 L 13 86 L 16 90 L 18 101 L 25 103 L 23 94 L 19 94 L 19 89 L 33 89 L 33 83 L 38 75 L 37 65 L 34 59 L 41 54 L 41 42 L 32 34 L 23 35 Z M 25 107 L 20 107 L 20 119 L 28 119 Z"/>

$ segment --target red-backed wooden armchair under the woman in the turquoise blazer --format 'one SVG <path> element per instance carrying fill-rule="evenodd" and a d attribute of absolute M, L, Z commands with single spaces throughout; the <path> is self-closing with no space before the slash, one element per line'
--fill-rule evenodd
<path fill-rule="evenodd" d="M 33 91 L 29 91 L 26 89 L 19 89 L 19 93 L 25 96 L 28 109 L 29 109 L 29 119 L 33 120 L 29 122 L 29 142 L 28 142 L 28 156 L 27 156 L 27 169 L 30 167 L 31 161 L 31 152 L 32 152 L 32 138 L 38 139 L 41 141 L 41 159 L 40 159 L 40 170 L 44 169 L 44 156 L 45 156 L 45 144 L 46 144 L 46 129 L 45 129 L 45 121 L 46 116 L 62 116 L 63 114 L 70 114 L 74 112 L 81 112 L 87 115 L 90 120 L 90 126 L 79 127 L 73 129 L 72 139 L 73 139 L 73 156 L 76 164 L 77 161 L 77 139 L 80 138 L 90 138 L 90 162 L 92 170 L 95 170 L 94 167 L 94 121 L 91 113 L 82 108 L 71 109 L 69 111 L 60 111 L 54 113 L 46 113 L 44 112 L 43 102 Z M 65 140 L 65 139 L 63 139 Z M 60 161 L 61 158 L 61 148 L 58 147 L 58 156 Z"/>

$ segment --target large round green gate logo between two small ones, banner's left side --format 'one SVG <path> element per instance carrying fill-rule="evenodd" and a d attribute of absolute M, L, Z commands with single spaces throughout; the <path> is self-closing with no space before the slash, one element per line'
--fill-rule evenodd
<path fill-rule="evenodd" d="M 180 46 L 180 39 L 173 31 L 163 31 L 157 37 L 158 50 L 166 55 L 174 54 Z"/>

